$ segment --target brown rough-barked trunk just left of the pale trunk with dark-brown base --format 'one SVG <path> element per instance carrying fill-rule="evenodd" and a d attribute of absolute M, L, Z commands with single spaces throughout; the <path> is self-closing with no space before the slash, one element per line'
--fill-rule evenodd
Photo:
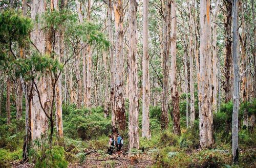
<path fill-rule="evenodd" d="M 168 76 L 169 76 L 169 49 L 170 49 L 170 0 L 163 4 L 163 93 L 162 93 L 162 115 L 161 129 L 168 127 Z"/>

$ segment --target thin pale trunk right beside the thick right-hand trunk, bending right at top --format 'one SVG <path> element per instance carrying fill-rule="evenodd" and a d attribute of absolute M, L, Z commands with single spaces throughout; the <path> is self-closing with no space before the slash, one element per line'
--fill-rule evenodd
<path fill-rule="evenodd" d="M 217 0 L 215 10 L 212 14 L 212 111 L 217 113 L 217 16 L 219 13 L 220 0 Z"/>

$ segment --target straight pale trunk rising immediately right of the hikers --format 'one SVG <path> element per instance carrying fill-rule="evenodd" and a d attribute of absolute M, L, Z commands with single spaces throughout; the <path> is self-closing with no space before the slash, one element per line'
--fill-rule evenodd
<path fill-rule="evenodd" d="M 137 76 L 137 3 L 130 1 L 129 29 L 130 48 L 128 58 L 129 71 L 129 152 L 133 148 L 139 149 L 139 102 Z"/>

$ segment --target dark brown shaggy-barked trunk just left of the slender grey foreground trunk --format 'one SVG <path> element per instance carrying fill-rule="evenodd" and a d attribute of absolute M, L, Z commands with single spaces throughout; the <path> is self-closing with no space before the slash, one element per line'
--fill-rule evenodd
<path fill-rule="evenodd" d="M 232 62 L 232 52 L 231 52 L 231 21 L 232 21 L 232 3 L 230 0 L 225 0 L 226 14 L 225 14 L 225 47 L 226 47 L 226 57 L 225 57 L 225 102 L 231 100 L 231 88 L 232 88 L 232 72 L 231 72 L 231 62 Z"/>

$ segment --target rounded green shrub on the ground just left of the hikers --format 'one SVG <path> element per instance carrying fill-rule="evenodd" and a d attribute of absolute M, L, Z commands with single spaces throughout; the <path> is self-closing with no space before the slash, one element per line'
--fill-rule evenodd
<path fill-rule="evenodd" d="M 97 139 L 111 132 L 111 118 L 104 119 L 101 106 L 76 109 L 74 105 L 63 107 L 63 129 L 67 137 L 82 140 Z"/>

